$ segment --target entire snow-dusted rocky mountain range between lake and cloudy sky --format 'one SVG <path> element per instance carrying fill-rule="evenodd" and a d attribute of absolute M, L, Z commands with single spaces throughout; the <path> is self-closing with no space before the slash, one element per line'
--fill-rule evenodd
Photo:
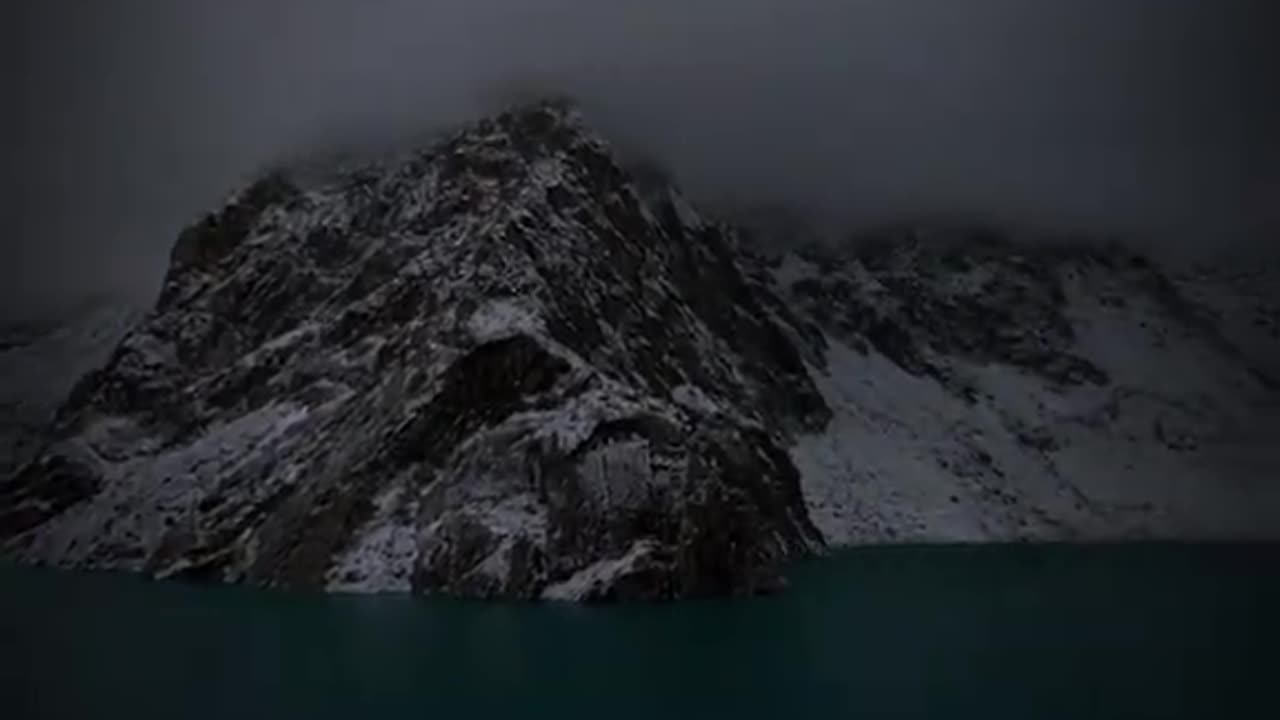
<path fill-rule="evenodd" d="M 262 178 L 105 363 L 0 348 L 92 370 L 10 454 L 0 542 L 595 600 L 767 589 L 858 542 L 1275 537 L 1262 287 L 965 228 L 764 252 L 538 102 Z"/>

